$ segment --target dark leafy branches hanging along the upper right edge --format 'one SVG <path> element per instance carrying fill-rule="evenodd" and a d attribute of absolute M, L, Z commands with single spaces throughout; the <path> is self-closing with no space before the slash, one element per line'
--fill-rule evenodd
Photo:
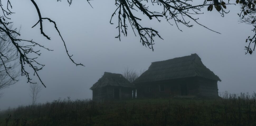
<path fill-rule="evenodd" d="M 256 1 L 255 0 L 236 0 L 236 3 L 241 5 L 241 13 L 238 14 L 240 22 L 251 24 L 253 26 L 252 31 L 254 35 L 249 36 L 245 42 L 248 42 L 248 46 L 245 46 L 245 54 L 252 54 L 256 46 Z M 251 47 L 252 46 L 252 47 Z"/>

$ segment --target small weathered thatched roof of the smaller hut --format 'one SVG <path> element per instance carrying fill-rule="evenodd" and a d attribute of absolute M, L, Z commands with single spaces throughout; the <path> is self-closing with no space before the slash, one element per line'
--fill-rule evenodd
<path fill-rule="evenodd" d="M 104 72 L 104 75 L 90 89 L 94 90 L 105 86 L 134 88 L 134 85 L 124 78 L 123 75 Z"/>

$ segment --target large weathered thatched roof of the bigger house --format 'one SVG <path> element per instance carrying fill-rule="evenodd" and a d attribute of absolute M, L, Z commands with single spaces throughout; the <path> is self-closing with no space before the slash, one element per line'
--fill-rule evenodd
<path fill-rule="evenodd" d="M 152 62 L 149 69 L 134 83 L 154 82 L 186 77 L 203 77 L 221 81 L 220 78 L 203 65 L 197 54 L 174 59 Z"/>

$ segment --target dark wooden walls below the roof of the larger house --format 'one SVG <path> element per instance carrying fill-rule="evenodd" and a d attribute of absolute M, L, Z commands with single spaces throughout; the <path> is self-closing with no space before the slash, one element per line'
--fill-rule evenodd
<path fill-rule="evenodd" d="M 164 85 L 164 91 L 160 91 L 161 84 Z M 186 91 L 182 92 L 182 86 L 184 85 L 186 85 Z M 147 86 L 151 87 L 150 92 L 145 90 Z M 208 80 L 200 77 L 192 77 L 186 79 L 143 83 L 140 86 L 137 86 L 138 98 L 165 98 L 182 95 L 198 97 L 217 97 L 217 81 Z"/>

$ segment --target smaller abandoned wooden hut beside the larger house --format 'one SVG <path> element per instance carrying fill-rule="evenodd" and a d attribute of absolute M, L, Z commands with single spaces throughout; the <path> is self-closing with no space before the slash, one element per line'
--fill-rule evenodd
<path fill-rule="evenodd" d="M 104 72 L 104 75 L 90 88 L 94 101 L 132 98 L 135 89 L 121 74 Z"/>

